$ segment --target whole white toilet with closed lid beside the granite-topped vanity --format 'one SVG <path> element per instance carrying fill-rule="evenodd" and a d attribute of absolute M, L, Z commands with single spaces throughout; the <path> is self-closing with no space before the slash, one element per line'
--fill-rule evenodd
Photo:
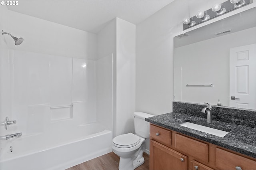
<path fill-rule="evenodd" d="M 127 133 L 116 136 L 112 140 L 112 149 L 120 156 L 119 170 L 134 170 L 144 163 L 142 156 L 145 151 L 145 139 L 149 138 L 149 123 L 147 117 L 153 117 L 148 113 L 134 112 L 135 134 Z"/>

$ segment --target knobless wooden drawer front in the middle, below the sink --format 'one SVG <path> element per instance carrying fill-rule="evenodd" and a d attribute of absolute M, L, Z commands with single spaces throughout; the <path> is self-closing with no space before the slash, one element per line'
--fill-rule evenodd
<path fill-rule="evenodd" d="M 198 160 L 208 163 L 208 144 L 175 134 L 175 148 Z"/>

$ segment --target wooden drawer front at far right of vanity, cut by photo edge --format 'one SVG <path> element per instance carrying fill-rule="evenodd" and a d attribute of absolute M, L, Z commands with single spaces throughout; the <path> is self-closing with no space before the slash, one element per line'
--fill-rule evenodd
<path fill-rule="evenodd" d="M 256 170 L 256 161 L 226 150 L 216 148 L 215 156 L 215 166 L 221 170 L 236 170 L 236 166 L 240 166 L 242 170 Z"/>

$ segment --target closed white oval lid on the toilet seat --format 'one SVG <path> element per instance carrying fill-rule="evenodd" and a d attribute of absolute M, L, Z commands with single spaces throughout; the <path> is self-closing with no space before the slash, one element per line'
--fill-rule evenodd
<path fill-rule="evenodd" d="M 130 148 L 140 142 L 140 137 L 132 133 L 127 133 L 116 136 L 112 141 L 113 145 L 118 148 Z"/>

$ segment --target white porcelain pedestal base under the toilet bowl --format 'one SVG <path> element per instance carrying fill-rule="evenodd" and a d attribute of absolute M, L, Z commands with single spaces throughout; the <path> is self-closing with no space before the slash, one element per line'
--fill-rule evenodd
<path fill-rule="evenodd" d="M 121 158 L 119 161 L 119 170 L 134 170 L 138 166 L 142 165 L 145 162 L 144 158 L 140 158 L 139 160 L 132 160 L 132 158 Z"/>

